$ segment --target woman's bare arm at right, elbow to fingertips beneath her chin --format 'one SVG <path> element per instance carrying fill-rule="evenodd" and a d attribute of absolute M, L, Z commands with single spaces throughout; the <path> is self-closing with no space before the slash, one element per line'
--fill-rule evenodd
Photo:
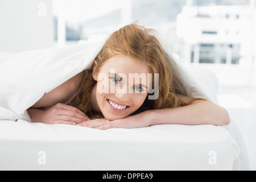
<path fill-rule="evenodd" d="M 184 100 L 190 97 L 179 96 Z M 112 127 L 138 128 L 160 124 L 179 124 L 179 125 L 229 125 L 230 119 L 228 112 L 220 106 L 209 101 L 198 100 L 191 105 L 176 107 L 172 109 L 148 110 L 115 121 L 106 119 L 95 119 L 82 122 L 80 126 L 93 127 L 97 129 L 109 129 Z"/>

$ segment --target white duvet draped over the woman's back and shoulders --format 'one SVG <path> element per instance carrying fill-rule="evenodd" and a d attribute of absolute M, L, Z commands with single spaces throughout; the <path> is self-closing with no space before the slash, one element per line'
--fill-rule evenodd
<path fill-rule="evenodd" d="M 105 40 L 102 39 L 97 43 L 87 42 L 70 47 L 39 49 L 0 56 L 0 122 L 30 122 L 31 119 L 26 110 L 34 105 L 44 93 L 50 92 L 77 73 L 91 67 Z M 206 98 L 217 104 L 216 98 L 207 92 L 179 61 L 175 60 L 175 63 L 177 69 L 174 77 L 183 84 L 184 94 Z M 63 127 L 66 129 L 69 126 Z M 4 129 L 2 128 L 2 130 Z M 116 130 L 118 129 L 109 131 Z M 135 131 L 139 131 L 139 129 Z M 164 131 L 166 132 L 166 129 Z M 223 132 L 222 129 L 221 132 Z M 2 141 L 3 135 L 0 137 L 2 137 L 0 138 Z M 237 148 L 234 156 L 240 152 Z M 234 161 L 236 159 L 232 158 Z"/>

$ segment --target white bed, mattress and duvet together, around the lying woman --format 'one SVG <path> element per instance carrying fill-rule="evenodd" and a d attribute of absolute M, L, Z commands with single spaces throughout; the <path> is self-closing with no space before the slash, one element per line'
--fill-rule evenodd
<path fill-rule="evenodd" d="M 90 67 L 104 42 L 0 55 L 1 77 L 9 79 L 1 80 L 0 91 L 1 170 L 243 169 L 241 144 L 228 127 L 154 125 L 97 130 L 31 123 L 26 109 Z M 26 61 L 28 67 L 24 67 Z M 198 79 L 177 65 L 176 76 L 187 84 L 189 96 L 216 102 L 214 89 L 212 93 L 204 90 Z M 191 70 L 202 77 L 198 70 Z M 14 80 L 15 85 L 11 84 Z"/>

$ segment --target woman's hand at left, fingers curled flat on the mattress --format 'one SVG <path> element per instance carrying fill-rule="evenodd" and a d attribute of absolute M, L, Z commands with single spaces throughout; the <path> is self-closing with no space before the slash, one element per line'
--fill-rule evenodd
<path fill-rule="evenodd" d="M 41 122 L 76 125 L 89 120 L 90 118 L 76 107 L 59 103 L 44 111 Z"/>

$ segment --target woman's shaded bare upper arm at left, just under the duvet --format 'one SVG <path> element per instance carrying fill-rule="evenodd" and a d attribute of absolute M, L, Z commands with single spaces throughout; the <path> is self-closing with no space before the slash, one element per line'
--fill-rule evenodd
<path fill-rule="evenodd" d="M 51 92 L 45 93 L 32 107 L 51 107 L 57 103 L 67 102 L 79 89 L 83 76 L 84 71 L 65 81 Z"/>

